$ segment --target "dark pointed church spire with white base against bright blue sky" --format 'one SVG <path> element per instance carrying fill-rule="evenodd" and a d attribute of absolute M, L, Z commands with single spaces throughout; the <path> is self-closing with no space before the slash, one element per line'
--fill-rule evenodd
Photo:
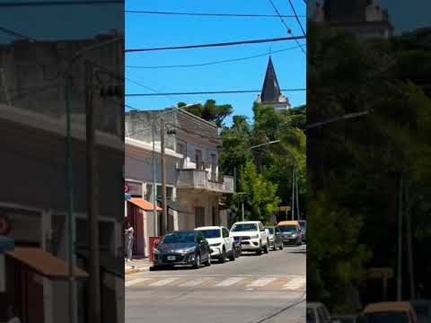
<path fill-rule="evenodd" d="M 274 107 L 274 109 L 289 109 L 290 103 L 286 96 L 280 90 L 277 81 L 276 71 L 274 65 L 272 65 L 272 59 L 268 59 L 267 73 L 265 74 L 265 80 L 263 81 L 262 92 L 258 95 L 256 103 L 268 104 Z"/>

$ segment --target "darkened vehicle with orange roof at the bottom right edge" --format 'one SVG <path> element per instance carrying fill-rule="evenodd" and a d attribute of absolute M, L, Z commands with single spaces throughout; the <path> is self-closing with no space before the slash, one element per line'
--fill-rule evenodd
<path fill-rule="evenodd" d="M 367 323 L 417 323 L 415 310 L 408 301 L 372 303 L 365 307 Z"/>

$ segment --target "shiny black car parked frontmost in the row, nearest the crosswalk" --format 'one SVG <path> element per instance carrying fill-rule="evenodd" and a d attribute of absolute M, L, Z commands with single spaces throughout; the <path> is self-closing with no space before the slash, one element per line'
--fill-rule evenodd
<path fill-rule="evenodd" d="M 173 231 L 166 234 L 154 250 L 154 266 L 211 265 L 211 249 L 199 231 Z"/>

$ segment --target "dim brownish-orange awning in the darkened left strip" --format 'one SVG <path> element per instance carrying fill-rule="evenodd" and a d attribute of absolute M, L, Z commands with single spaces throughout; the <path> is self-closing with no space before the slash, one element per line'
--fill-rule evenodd
<path fill-rule="evenodd" d="M 36 273 L 50 279 L 65 280 L 68 278 L 68 264 L 66 261 L 53 256 L 52 254 L 37 248 L 15 247 L 11 251 L 6 251 L 6 255 L 18 260 L 25 266 L 29 266 Z M 84 270 L 75 267 L 75 278 L 87 278 L 88 274 Z"/>

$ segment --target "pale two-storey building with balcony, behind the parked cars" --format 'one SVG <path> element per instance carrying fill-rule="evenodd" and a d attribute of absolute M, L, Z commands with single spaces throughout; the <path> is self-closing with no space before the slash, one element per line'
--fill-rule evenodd
<path fill-rule="evenodd" d="M 126 179 L 142 183 L 142 196 L 147 202 L 153 202 L 154 180 L 150 125 L 161 112 L 133 111 L 126 114 Z M 166 116 L 163 122 L 168 130 L 165 133 L 168 231 L 190 230 L 201 225 L 227 225 L 229 219 L 224 208 L 224 196 L 233 194 L 233 176 L 223 175 L 219 171 L 221 141 L 217 127 L 184 110 L 172 111 Z M 160 202 L 162 183 L 159 122 L 156 130 L 155 175 L 157 200 Z M 145 216 L 147 243 L 149 236 L 160 234 L 162 223 L 154 223 L 153 212 L 145 212 Z M 161 214 L 157 218 L 160 221 Z M 157 228 L 154 228 L 154 224 Z"/>

